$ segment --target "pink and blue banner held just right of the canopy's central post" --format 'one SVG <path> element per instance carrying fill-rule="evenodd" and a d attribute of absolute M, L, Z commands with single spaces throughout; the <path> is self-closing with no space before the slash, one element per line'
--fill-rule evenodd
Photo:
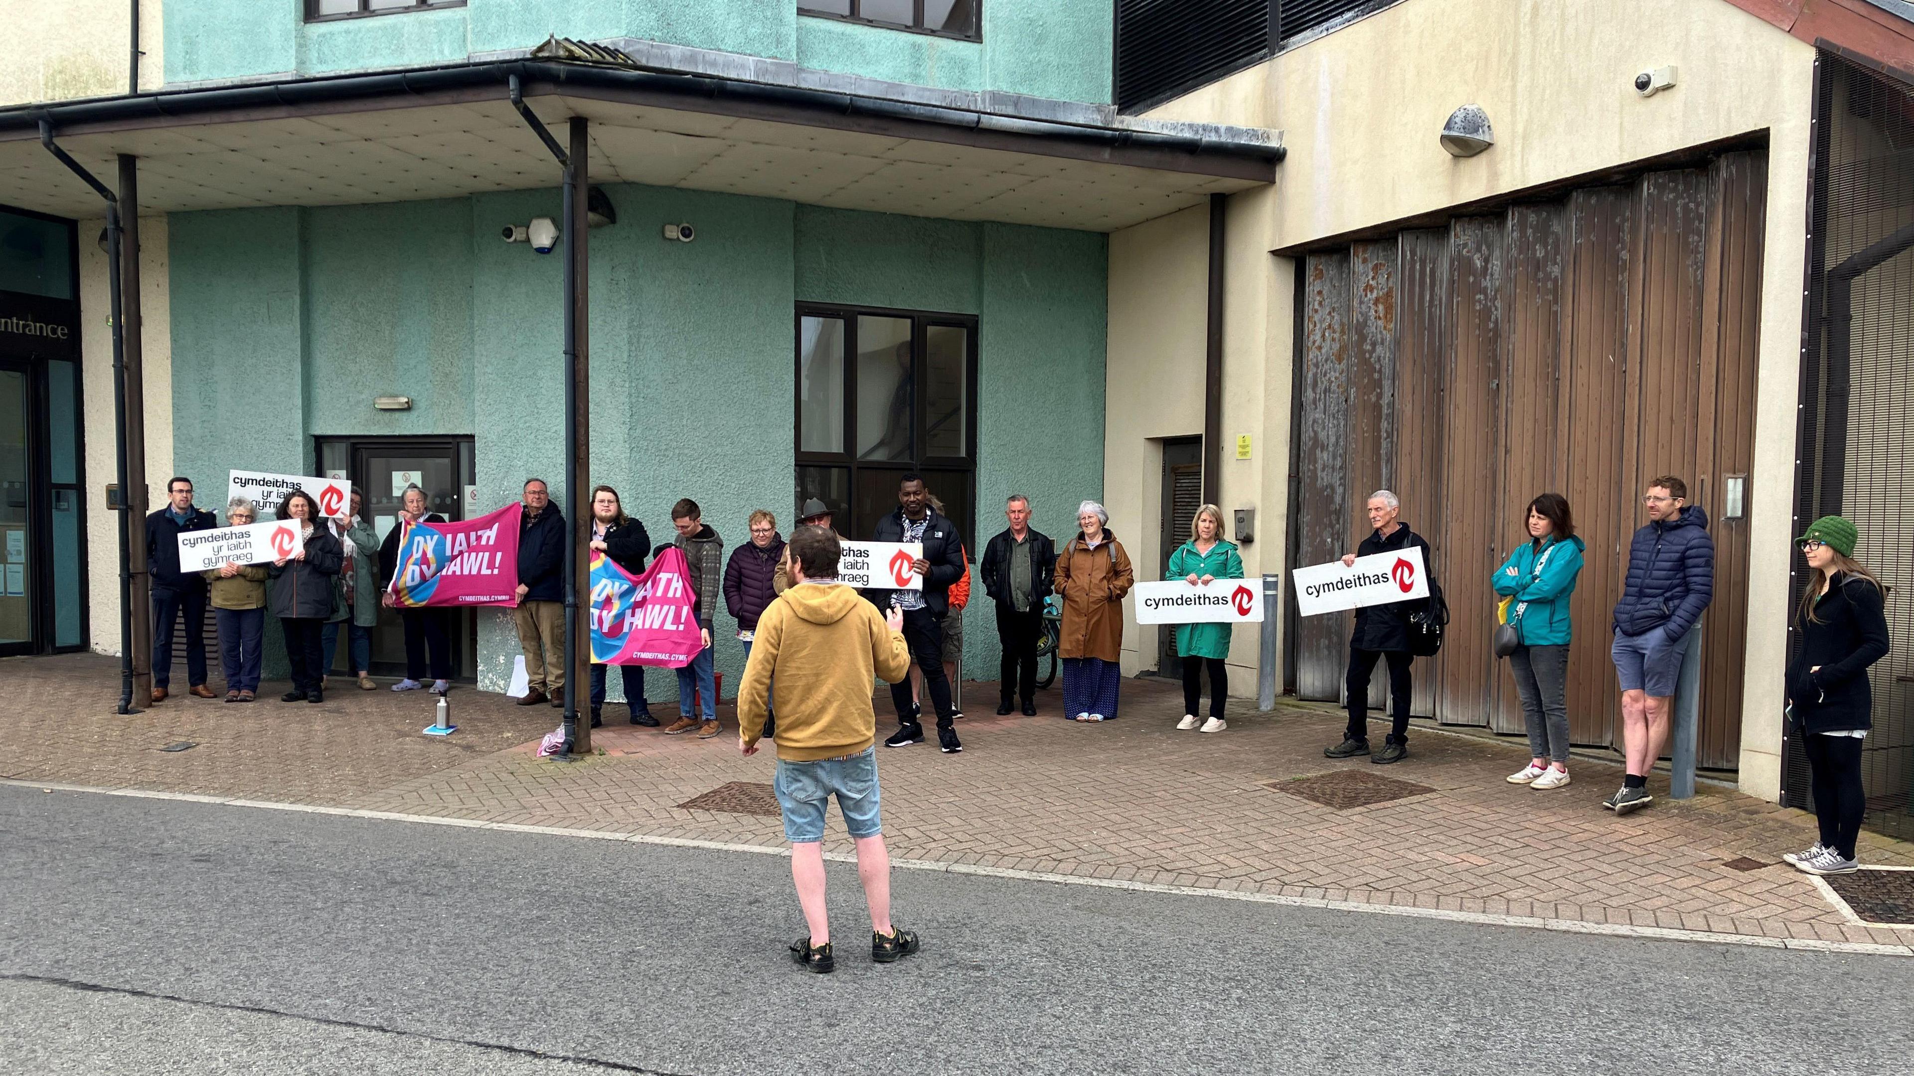
<path fill-rule="evenodd" d="M 591 661 L 683 668 L 704 649 L 691 565 L 666 546 L 634 576 L 605 553 L 591 553 Z"/>

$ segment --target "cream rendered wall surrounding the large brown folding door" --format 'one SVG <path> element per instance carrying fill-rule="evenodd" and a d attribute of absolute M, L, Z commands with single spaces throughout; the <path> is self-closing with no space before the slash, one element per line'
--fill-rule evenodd
<path fill-rule="evenodd" d="M 1225 448 L 1236 433 L 1248 433 L 1242 423 L 1259 415 L 1261 425 L 1259 460 L 1240 465 L 1225 452 L 1223 490 L 1225 500 L 1256 500 L 1263 534 L 1257 567 L 1277 571 L 1286 534 L 1294 278 L 1290 260 L 1242 258 L 1238 243 L 1282 249 L 1765 132 L 1769 234 L 1740 781 L 1749 793 L 1776 796 L 1813 61 L 1811 46 L 1723 0 L 1403 0 L 1154 109 L 1154 119 L 1277 128 L 1288 146 L 1275 188 L 1235 195 L 1229 216 Z M 1654 98 L 1636 96 L 1635 75 L 1663 65 L 1679 67 L 1679 84 Z M 1480 157 L 1455 159 L 1436 136 L 1464 103 L 1487 111 L 1497 144 Z M 1185 216 L 1202 220 L 1194 211 L 1166 220 Z M 1120 370 L 1137 368 L 1133 343 L 1120 335 L 1118 280 L 1143 272 L 1125 260 L 1145 253 L 1143 237 L 1156 235 L 1160 224 L 1131 228 L 1133 237 L 1120 232 L 1110 243 L 1112 496 L 1137 484 L 1120 467 L 1148 465 L 1141 450 L 1122 448 L 1120 440 L 1143 437 L 1139 429 L 1150 427 L 1158 410 L 1181 404 L 1177 394 L 1116 391 Z M 1175 264 L 1185 272 L 1181 260 Z M 1204 278 L 1202 266 L 1187 272 Z M 1171 266 L 1162 264 L 1152 289 L 1125 283 L 1129 306 L 1122 316 L 1129 324 L 1152 316 L 1183 324 L 1194 303 L 1200 333 L 1200 295 L 1187 299 L 1168 283 L 1169 274 Z M 1139 299 L 1146 306 L 1137 308 Z M 1152 383 L 1187 387 L 1192 417 L 1185 425 L 1200 429 L 1200 335 L 1191 348 L 1160 356 Z M 1141 511 L 1152 509 L 1148 494 L 1137 500 Z M 1254 666 L 1244 636 L 1233 662 Z"/>

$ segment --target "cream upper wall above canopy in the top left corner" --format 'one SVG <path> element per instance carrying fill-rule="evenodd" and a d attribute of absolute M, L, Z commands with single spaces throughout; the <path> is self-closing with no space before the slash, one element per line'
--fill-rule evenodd
<path fill-rule="evenodd" d="M 161 0 L 140 4 L 140 88 L 163 78 Z M 124 94 L 128 0 L 0 0 L 0 105 Z"/>

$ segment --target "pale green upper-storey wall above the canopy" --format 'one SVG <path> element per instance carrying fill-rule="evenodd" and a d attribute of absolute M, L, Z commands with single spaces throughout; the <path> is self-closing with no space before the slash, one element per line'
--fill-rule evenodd
<path fill-rule="evenodd" d="M 549 34 L 639 38 L 789 59 L 946 90 L 1110 100 L 1112 0 L 984 0 L 982 42 L 800 17 L 796 0 L 469 0 L 463 8 L 304 21 L 302 0 L 165 8 L 167 80 L 457 63 Z"/>

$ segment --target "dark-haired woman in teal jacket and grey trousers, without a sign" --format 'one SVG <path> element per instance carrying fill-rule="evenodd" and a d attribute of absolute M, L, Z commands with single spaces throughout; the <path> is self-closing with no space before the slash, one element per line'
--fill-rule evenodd
<path fill-rule="evenodd" d="M 1495 594 L 1510 597 L 1508 622 L 1522 645 L 1508 655 L 1529 728 L 1529 764 L 1508 775 L 1512 785 L 1568 785 L 1568 645 L 1573 639 L 1568 603 L 1581 574 L 1583 540 L 1562 494 L 1543 494 L 1527 507 L 1529 540 L 1495 569 Z"/>

